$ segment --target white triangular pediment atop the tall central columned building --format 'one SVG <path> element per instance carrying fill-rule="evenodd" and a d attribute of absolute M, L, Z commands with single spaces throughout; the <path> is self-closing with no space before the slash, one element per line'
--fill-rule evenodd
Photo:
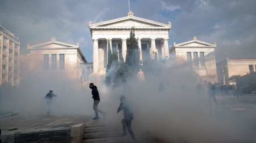
<path fill-rule="evenodd" d="M 89 24 L 89 28 L 166 28 L 170 29 L 171 25 L 158 23 L 157 21 L 147 20 L 136 16 L 126 16 L 119 19 L 104 21 L 102 23 Z"/>

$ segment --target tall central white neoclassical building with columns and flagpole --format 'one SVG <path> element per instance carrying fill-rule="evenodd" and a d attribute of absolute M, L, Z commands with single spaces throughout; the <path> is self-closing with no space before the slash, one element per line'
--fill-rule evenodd
<path fill-rule="evenodd" d="M 135 36 L 138 39 L 140 49 L 140 60 L 143 62 L 145 51 L 157 53 L 158 60 L 169 57 L 168 39 L 170 22 L 168 24 L 143 19 L 133 16 L 129 12 L 128 16 L 119 19 L 104 21 L 101 23 L 89 23 L 91 37 L 93 39 L 93 73 L 103 75 L 108 64 L 108 41 L 112 52 L 122 54 L 126 57 L 127 45 L 130 41 L 131 28 L 135 28 Z M 154 56 L 152 56 L 154 58 Z"/>

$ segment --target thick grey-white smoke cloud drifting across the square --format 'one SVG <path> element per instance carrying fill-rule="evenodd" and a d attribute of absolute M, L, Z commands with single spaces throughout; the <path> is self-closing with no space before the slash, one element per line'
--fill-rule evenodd
<path fill-rule="evenodd" d="M 221 104 L 209 104 L 207 86 L 204 96 L 198 98 L 195 86 L 197 75 L 184 65 L 162 64 L 158 74 L 145 74 L 145 82 L 137 79 L 127 80 L 132 87 L 131 93 L 123 93 L 123 86 L 109 89 L 105 83 L 91 80 L 98 87 L 101 102 L 99 109 L 107 112 L 106 120 L 121 124 L 122 113 L 116 114 L 121 94 L 127 100 L 136 102 L 132 127 L 150 131 L 166 141 L 172 142 L 244 142 L 256 141 L 255 109 L 243 113 L 226 112 Z M 151 72 L 155 73 L 155 72 Z M 158 85 L 163 83 L 164 91 L 159 93 Z M 13 112 L 33 113 L 45 116 L 45 94 L 53 90 L 57 95 L 52 104 L 55 116 L 93 115 L 91 90 L 75 90 L 71 83 L 47 80 L 29 80 L 24 82 L 16 93 L 5 95 L 1 99 L 1 109 Z M 181 89 L 181 85 L 184 85 Z M 217 97 L 223 98 L 223 97 Z M 218 100 L 219 101 L 219 100 Z M 217 113 L 209 113 L 218 111 Z M 99 115 L 99 118 L 102 118 Z"/>

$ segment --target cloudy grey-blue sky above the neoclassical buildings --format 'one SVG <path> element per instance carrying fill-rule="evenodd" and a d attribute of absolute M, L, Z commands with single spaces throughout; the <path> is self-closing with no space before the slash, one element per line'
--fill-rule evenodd
<path fill-rule="evenodd" d="M 216 62 L 229 58 L 256 58 L 255 0 L 135 0 L 134 16 L 160 23 L 172 23 L 173 42 L 193 40 L 216 42 Z M 129 0 L 0 0 L 2 27 L 20 41 L 20 53 L 27 44 L 56 41 L 79 43 L 88 62 L 93 62 L 93 41 L 88 28 L 106 20 L 127 16 Z"/>

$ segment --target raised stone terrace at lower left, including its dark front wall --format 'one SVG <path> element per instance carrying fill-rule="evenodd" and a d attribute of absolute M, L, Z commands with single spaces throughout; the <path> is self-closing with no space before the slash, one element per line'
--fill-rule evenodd
<path fill-rule="evenodd" d="M 91 116 L 34 116 L 29 113 L 1 116 L 1 139 L 8 143 L 70 143 L 70 127 L 87 122 L 93 122 Z"/>

